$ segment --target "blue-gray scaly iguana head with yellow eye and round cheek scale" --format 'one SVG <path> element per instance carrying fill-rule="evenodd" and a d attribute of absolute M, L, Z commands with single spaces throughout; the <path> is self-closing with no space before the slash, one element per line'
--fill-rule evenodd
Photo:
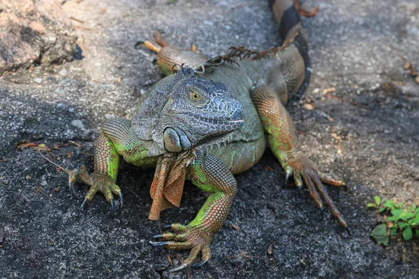
<path fill-rule="evenodd" d="M 196 75 L 192 68 L 183 67 L 175 76 L 166 77 L 149 94 L 133 125 L 143 140 L 152 134 L 152 153 L 218 144 L 243 126 L 242 104 L 231 96 L 230 89 Z M 151 119 L 145 119 L 147 114 Z M 146 127 L 144 121 L 152 121 L 151 126 Z"/>

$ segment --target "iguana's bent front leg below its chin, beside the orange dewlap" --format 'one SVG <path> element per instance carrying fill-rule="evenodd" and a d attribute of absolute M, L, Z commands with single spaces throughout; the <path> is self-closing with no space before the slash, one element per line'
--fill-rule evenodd
<path fill-rule="evenodd" d="M 191 249 L 189 257 L 180 266 L 170 271 L 179 271 L 186 266 L 201 266 L 211 258 L 210 243 L 214 234 L 223 226 L 237 192 L 237 183 L 230 169 L 209 153 L 197 152 L 195 162 L 189 165 L 187 177 L 205 192 L 211 193 L 197 216 L 189 225 L 172 224 L 175 232 L 153 236 L 164 239 L 150 242 L 152 246 L 167 246 L 170 249 Z M 192 264 L 202 252 L 202 261 Z"/>

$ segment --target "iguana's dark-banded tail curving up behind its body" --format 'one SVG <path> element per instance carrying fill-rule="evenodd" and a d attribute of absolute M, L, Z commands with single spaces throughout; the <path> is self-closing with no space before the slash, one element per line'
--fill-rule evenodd
<path fill-rule="evenodd" d="M 304 79 L 300 87 L 295 92 L 298 97 L 302 96 L 302 93 L 307 89 L 310 82 L 311 75 L 311 63 L 309 58 L 309 46 L 307 43 L 307 35 L 302 28 L 300 15 L 298 14 L 297 8 L 295 8 L 293 1 L 291 0 L 269 0 L 270 8 L 274 14 L 275 19 L 279 24 L 279 33 L 284 43 L 287 40 L 292 40 L 292 44 L 295 45 L 298 50 L 302 61 L 304 62 L 304 73 L 297 73 L 297 75 L 304 75 Z M 297 55 L 294 55 L 294 57 Z M 295 58 L 294 58 L 295 59 Z M 295 61 L 290 61 L 295 63 Z M 291 96 L 294 92 L 291 93 Z M 288 94 L 288 100 L 291 98 Z"/>

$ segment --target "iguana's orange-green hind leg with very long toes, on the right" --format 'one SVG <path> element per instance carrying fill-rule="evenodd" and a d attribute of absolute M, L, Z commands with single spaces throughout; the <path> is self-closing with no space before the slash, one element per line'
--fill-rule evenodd
<path fill-rule="evenodd" d="M 268 135 L 272 152 L 285 169 L 286 181 L 288 181 L 289 176 L 293 175 L 295 185 L 299 191 L 302 188 L 302 181 L 304 181 L 314 202 L 320 207 L 322 217 L 323 201 L 321 197 L 329 205 L 339 224 L 347 229 L 344 217 L 328 195 L 322 181 L 334 186 L 344 186 L 345 183 L 332 179 L 328 174 L 319 172 L 314 163 L 302 153 L 293 121 L 279 100 L 277 93 L 268 86 L 259 86 L 251 93 L 251 99 L 258 110 L 260 121 L 262 121 L 263 128 Z"/>

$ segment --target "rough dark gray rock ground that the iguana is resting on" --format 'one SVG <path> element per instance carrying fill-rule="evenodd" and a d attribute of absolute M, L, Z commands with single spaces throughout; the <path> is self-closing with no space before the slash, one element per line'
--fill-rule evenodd
<path fill-rule="evenodd" d="M 62 8 L 78 20 L 77 59 L 0 80 L 0 278 L 418 278 L 418 237 L 377 246 L 369 238 L 376 213 L 366 208 L 374 195 L 414 202 L 419 193 L 419 86 L 403 68 L 407 61 L 419 68 L 418 1 L 304 3 L 320 6 L 316 17 L 303 19 L 314 72 L 302 100 L 288 109 L 309 157 L 348 185 L 346 192 L 328 189 L 351 236 L 330 211 L 321 220 L 307 191 L 298 198 L 284 188 L 284 171 L 267 151 L 236 176 L 237 197 L 214 237 L 211 262 L 168 273 L 169 255 L 177 265 L 187 252 L 147 245 L 160 225 L 147 219 L 152 169 L 122 163 L 124 209 L 112 214 L 98 195 L 79 213 L 87 187 L 77 184 L 73 197 L 65 172 L 36 150 L 15 147 L 22 140 L 61 146 L 41 153 L 67 169 L 84 163 L 91 171 L 98 126 L 112 116 L 130 118 L 142 92 L 161 78 L 155 55 L 134 47 L 156 29 L 208 55 L 231 45 L 279 44 L 265 1 L 167 2 L 66 1 Z M 322 95 L 332 86 L 339 98 Z M 186 223 L 205 198 L 186 183 L 181 207 L 164 211 L 161 224 Z"/>

